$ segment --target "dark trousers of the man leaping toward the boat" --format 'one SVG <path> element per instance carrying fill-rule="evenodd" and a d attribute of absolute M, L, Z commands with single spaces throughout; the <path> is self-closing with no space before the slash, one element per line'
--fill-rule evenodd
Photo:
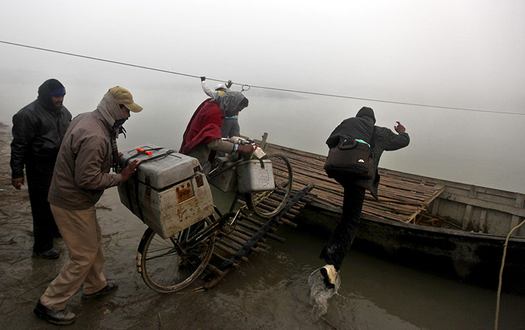
<path fill-rule="evenodd" d="M 319 256 L 328 265 L 334 265 L 337 270 L 341 268 L 343 258 L 350 251 L 359 228 L 359 218 L 365 200 L 365 188 L 353 183 L 343 185 L 343 188 L 345 189 L 343 216 L 336 229 L 330 234 L 330 238 L 328 238 L 323 251 L 321 251 L 321 256 Z"/>

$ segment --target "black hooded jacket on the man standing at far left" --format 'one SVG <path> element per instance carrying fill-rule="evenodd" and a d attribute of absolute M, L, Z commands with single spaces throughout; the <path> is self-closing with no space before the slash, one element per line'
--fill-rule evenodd
<path fill-rule="evenodd" d="M 71 121 L 70 112 L 53 105 L 50 83 L 38 89 L 38 98 L 12 117 L 11 170 L 12 178 L 23 177 L 23 167 L 39 174 L 53 175 L 62 138 Z M 50 178 L 49 178 L 50 179 Z"/>

